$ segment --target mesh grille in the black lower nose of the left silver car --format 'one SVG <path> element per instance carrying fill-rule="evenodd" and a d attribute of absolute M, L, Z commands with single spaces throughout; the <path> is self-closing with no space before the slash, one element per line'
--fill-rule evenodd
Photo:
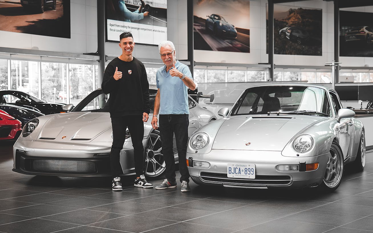
<path fill-rule="evenodd" d="M 84 160 L 51 160 L 34 159 L 31 161 L 31 169 L 35 171 L 48 172 L 73 172 L 73 173 L 95 173 L 93 161 Z"/>

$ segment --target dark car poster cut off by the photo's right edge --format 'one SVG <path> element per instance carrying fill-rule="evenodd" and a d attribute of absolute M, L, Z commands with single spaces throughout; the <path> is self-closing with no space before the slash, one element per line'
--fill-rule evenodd
<path fill-rule="evenodd" d="M 339 56 L 373 57 L 373 13 L 339 11 Z"/>

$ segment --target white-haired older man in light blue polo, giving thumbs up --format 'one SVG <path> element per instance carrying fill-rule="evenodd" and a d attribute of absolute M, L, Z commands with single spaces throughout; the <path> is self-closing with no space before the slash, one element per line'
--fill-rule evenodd
<path fill-rule="evenodd" d="M 162 150 L 166 161 L 166 179 L 156 189 L 176 188 L 175 159 L 173 156 L 173 134 L 179 156 L 181 192 L 190 191 L 189 171 L 186 166 L 186 145 L 188 143 L 189 107 L 188 88 L 195 89 L 192 74 L 185 64 L 176 60 L 175 45 L 171 41 L 159 44 L 159 53 L 164 66 L 157 70 L 158 92 L 154 102 L 151 125 L 158 128 L 162 140 Z"/>

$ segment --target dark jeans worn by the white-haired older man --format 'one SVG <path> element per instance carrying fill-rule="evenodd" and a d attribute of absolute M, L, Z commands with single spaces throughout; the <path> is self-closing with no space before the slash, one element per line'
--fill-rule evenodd
<path fill-rule="evenodd" d="M 188 143 L 188 114 L 160 114 L 159 131 L 161 133 L 162 151 L 166 161 L 166 179 L 176 182 L 175 158 L 173 156 L 173 134 L 175 133 L 176 147 L 179 155 L 180 182 L 189 182 L 189 171 L 186 166 L 186 145 Z"/>

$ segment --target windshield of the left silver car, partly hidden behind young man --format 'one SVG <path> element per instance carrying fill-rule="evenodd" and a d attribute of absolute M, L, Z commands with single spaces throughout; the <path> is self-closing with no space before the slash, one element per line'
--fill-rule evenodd
<path fill-rule="evenodd" d="M 154 111 L 154 100 L 157 95 L 157 90 L 149 89 L 150 99 L 150 113 Z M 85 97 L 72 112 L 77 111 L 92 111 L 92 112 L 109 112 L 109 97 L 110 94 L 104 94 L 101 89 L 93 91 L 87 97 Z"/>

